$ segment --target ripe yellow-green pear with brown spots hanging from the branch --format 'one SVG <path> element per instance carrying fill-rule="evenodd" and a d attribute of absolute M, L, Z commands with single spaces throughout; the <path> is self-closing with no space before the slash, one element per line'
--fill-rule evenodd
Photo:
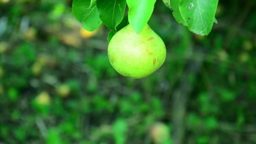
<path fill-rule="evenodd" d="M 163 40 L 148 24 L 140 34 L 128 24 L 112 37 L 108 46 L 112 67 L 125 77 L 147 77 L 163 65 L 165 56 Z"/>

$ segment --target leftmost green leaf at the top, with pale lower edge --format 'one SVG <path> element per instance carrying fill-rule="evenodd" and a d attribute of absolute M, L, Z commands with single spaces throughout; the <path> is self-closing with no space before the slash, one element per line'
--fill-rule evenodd
<path fill-rule="evenodd" d="M 77 21 L 81 22 L 83 28 L 88 31 L 93 31 L 101 25 L 99 13 L 94 3 L 92 6 L 91 0 L 74 0 L 72 3 L 72 13 Z"/>

